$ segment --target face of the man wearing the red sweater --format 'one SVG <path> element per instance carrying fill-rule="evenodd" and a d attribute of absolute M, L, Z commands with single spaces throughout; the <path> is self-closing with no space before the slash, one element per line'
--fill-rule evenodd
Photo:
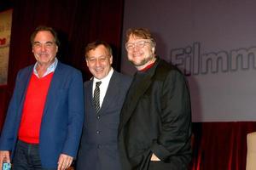
<path fill-rule="evenodd" d="M 55 38 L 50 31 L 38 31 L 32 43 L 32 53 L 38 61 L 38 65 L 48 67 L 54 62 L 58 52 Z"/>

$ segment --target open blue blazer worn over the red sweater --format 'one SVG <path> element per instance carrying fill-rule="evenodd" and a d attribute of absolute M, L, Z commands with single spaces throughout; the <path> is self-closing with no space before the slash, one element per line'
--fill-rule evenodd
<path fill-rule="evenodd" d="M 15 91 L 5 119 L 0 150 L 15 152 L 26 88 L 33 65 L 19 71 Z M 81 72 L 58 61 L 49 85 L 40 128 L 39 155 L 42 167 L 57 167 L 61 153 L 75 157 L 84 120 L 83 80 Z"/>

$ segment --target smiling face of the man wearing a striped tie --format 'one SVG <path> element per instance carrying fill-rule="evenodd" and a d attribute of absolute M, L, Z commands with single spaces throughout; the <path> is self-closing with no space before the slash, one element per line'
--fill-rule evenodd
<path fill-rule="evenodd" d="M 113 57 L 108 53 L 107 48 L 103 45 L 99 45 L 95 49 L 91 49 L 86 57 L 86 64 L 90 70 L 90 73 L 101 80 L 108 76 L 108 72 L 111 70 Z"/>

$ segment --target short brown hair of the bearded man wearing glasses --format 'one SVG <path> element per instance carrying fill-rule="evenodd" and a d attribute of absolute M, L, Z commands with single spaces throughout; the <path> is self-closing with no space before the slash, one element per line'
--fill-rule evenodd
<path fill-rule="evenodd" d="M 129 41 L 130 36 L 134 37 L 141 37 L 143 39 L 149 39 L 153 42 L 155 46 L 155 40 L 154 37 L 152 36 L 151 32 L 147 28 L 129 28 L 126 31 L 126 42 Z"/>

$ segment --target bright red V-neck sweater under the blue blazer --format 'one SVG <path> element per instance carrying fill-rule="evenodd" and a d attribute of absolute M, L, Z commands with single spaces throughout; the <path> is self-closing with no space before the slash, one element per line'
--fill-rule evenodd
<path fill-rule="evenodd" d="M 39 144 L 41 120 L 53 72 L 38 78 L 32 74 L 20 122 L 19 139 L 29 144 Z"/>

